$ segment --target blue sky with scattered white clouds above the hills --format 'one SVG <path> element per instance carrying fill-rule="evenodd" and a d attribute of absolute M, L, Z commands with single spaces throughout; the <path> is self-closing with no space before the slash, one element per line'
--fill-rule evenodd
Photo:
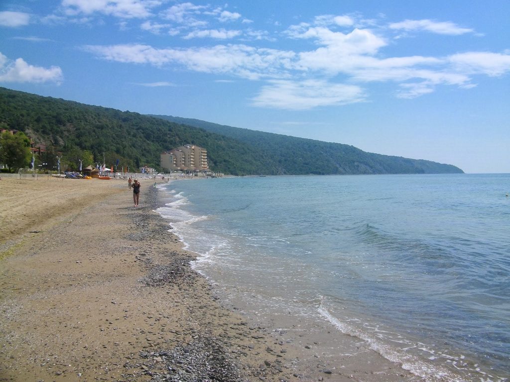
<path fill-rule="evenodd" d="M 510 173 L 510 2 L 3 0 L 0 86 Z"/>

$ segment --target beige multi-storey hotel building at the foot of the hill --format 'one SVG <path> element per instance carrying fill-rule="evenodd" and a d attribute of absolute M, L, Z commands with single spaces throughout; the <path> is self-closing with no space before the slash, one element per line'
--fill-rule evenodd
<path fill-rule="evenodd" d="M 166 170 L 208 171 L 207 150 L 185 145 L 161 153 L 161 167 Z"/>

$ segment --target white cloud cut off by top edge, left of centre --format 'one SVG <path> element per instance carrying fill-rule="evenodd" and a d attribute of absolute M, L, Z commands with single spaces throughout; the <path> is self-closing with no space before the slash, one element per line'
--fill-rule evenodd
<path fill-rule="evenodd" d="M 162 0 L 62 0 L 68 16 L 98 12 L 122 18 L 145 18 L 151 15 L 152 8 L 161 4 Z"/>

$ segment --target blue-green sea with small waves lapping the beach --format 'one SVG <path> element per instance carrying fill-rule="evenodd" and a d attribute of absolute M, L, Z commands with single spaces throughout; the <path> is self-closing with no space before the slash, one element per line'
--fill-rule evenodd
<path fill-rule="evenodd" d="M 222 301 L 310 344 L 314 362 L 509 380 L 510 174 L 226 177 L 158 193 Z"/>

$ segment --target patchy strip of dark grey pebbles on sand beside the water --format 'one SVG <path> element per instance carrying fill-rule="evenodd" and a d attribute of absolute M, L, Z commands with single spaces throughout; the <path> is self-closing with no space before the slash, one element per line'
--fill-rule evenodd
<path fill-rule="evenodd" d="M 160 206 L 156 190 L 150 190 L 147 201 L 152 210 Z M 170 235 L 175 241 L 175 236 L 168 232 L 167 222 L 157 214 L 144 214 L 135 219 L 134 224 L 139 230 L 138 234 L 130 236 L 131 239 L 146 240 L 147 237 L 143 235 L 149 234 L 152 239 Z M 154 261 L 146 253 L 137 256 L 137 261 L 145 265 L 147 272 L 140 282 L 147 287 L 163 289 L 168 285 L 177 285 L 181 295 L 192 299 L 197 298 L 196 291 L 199 290 L 205 292 L 206 298 L 188 307 L 190 324 L 187 328 L 170 330 L 170 333 L 187 337 L 188 340 L 177 340 L 171 348 L 160 346 L 140 350 L 139 357 L 144 360 L 140 367 L 150 375 L 151 380 L 286 381 L 286 378 L 301 376 L 293 375 L 285 365 L 282 354 L 286 350 L 281 348 L 277 353 L 268 346 L 268 343 L 274 343 L 281 347 L 284 345 L 282 341 L 278 344 L 264 333 L 263 328 L 249 325 L 241 316 L 219 305 L 205 279 L 190 267 L 194 254 L 173 250 L 159 251 L 158 256 L 165 260 Z M 212 318 L 214 316 L 220 319 L 215 320 Z M 284 369 L 287 369 L 287 373 L 284 373 Z"/>

